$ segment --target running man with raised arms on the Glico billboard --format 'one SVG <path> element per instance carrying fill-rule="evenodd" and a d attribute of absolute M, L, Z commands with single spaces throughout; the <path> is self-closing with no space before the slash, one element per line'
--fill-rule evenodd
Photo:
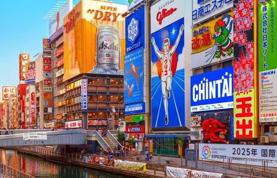
<path fill-rule="evenodd" d="M 168 125 L 168 102 L 167 99 L 170 98 L 170 90 L 171 90 L 171 80 L 172 80 L 172 73 L 171 73 L 171 62 L 172 62 L 172 55 L 175 52 L 182 33 L 183 33 L 183 25 L 180 26 L 179 34 L 176 38 L 175 44 L 172 46 L 171 49 L 169 49 L 170 41 L 169 38 L 164 39 L 163 43 L 163 49 L 164 51 L 159 51 L 159 48 L 157 47 L 155 43 L 155 39 L 151 38 L 151 43 L 155 49 L 156 55 L 161 60 L 162 65 L 162 74 L 161 74 L 161 86 L 162 86 L 162 94 L 164 99 L 164 108 L 165 108 L 165 125 Z"/>

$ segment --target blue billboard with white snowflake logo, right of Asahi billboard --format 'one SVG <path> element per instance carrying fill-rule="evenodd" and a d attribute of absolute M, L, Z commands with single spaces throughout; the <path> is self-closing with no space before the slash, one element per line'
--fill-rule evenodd
<path fill-rule="evenodd" d="M 125 19 L 126 53 L 144 48 L 144 6 Z"/>

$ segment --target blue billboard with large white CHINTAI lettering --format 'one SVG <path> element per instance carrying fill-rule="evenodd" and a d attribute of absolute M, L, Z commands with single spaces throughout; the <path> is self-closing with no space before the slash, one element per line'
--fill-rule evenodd
<path fill-rule="evenodd" d="M 191 112 L 234 107 L 233 67 L 191 76 Z"/>

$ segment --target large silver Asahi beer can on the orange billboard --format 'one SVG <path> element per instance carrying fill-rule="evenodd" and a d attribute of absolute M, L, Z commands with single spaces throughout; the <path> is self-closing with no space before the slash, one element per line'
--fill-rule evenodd
<path fill-rule="evenodd" d="M 117 28 L 109 25 L 97 28 L 98 68 L 120 70 L 120 44 Z"/>

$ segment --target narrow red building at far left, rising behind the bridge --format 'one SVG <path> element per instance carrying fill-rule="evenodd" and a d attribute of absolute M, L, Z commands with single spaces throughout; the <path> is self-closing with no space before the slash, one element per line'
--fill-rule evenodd
<path fill-rule="evenodd" d="M 26 96 L 26 84 L 20 83 L 17 85 L 17 118 L 18 127 L 24 128 L 25 123 L 25 96 Z"/>

